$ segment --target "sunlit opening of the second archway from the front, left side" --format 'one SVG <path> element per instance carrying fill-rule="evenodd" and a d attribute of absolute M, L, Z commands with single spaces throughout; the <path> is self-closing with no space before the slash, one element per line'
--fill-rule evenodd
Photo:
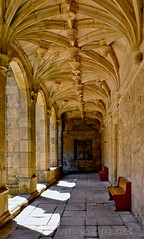
<path fill-rule="evenodd" d="M 36 104 L 36 163 L 38 182 L 46 182 L 50 162 L 48 158 L 47 108 L 42 91 L 38 92 Z"/>

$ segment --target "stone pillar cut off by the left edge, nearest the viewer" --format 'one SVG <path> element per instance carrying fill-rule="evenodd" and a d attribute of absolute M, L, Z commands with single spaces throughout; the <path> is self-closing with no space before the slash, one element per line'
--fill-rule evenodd
<path fill-rule="evenodd" d="M 8 215 L 8 189 L 6 188 L 6 139 L 5 139 L 5 97 L 7 62 L 0 58 L 0 223 Z M 1 69 L 2 67 L 2 69 Z"/>

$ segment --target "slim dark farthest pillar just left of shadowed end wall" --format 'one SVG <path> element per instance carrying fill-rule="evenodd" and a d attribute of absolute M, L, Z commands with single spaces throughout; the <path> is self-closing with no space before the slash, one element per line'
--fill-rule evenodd
<path fill-rule="evenodd" d="M 57 120 L 58 123 L 58 166 L 63 165 L 63 134 L 62 120 Z"/>

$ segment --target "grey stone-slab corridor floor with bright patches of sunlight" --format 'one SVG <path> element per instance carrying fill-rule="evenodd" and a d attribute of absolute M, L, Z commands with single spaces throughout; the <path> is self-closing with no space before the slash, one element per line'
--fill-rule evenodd
<path fill-rule="evenodd" d="M 66 175 L 0 229 L 0 239 L 139 239 L 130 212 L 116 212 L 108 182 L 98 175 Z"/>

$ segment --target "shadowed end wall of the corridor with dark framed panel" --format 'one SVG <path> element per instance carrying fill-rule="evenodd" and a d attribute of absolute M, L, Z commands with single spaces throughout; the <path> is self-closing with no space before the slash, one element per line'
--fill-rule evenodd
<path fill-rule="evenodd" d="M 98 172 L 101 169 L 100 122 L 70 119 L 63 132 L 64 172 Z"/>

